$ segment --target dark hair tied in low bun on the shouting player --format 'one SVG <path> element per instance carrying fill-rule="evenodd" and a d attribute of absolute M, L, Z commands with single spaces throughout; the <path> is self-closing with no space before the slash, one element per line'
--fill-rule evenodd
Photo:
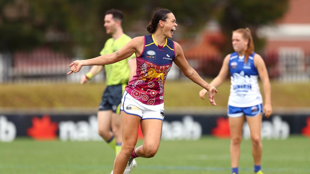
<path fill-rule="evenodd" d="M 146 28 L 148 30 L 148 33 L 154 33 L 157 29 L 157 24 L 159 23 L 159 21 L 166 21 L 169 13 L 172 12 L 166 8 L 156 8 L 152 13 L 152 20 Z"/>

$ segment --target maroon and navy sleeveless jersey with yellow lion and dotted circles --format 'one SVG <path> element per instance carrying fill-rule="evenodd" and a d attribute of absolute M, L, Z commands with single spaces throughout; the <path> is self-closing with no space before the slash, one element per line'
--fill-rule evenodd
<path fill-rule="evenodd" d="M 167 38 L 159 46 L 153 35 L 144 36 L 144 49 L 137 59 L 137 73 L 125 90 L 136 100 L 147 105 L 164 102 L 164 83 L 175 59 L 174 42 Z"/>

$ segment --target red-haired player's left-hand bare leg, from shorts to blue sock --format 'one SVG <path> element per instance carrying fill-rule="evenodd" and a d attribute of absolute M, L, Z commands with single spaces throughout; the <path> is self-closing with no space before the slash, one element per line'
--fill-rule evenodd
<path fill-rule="evenodd" d="M 238 167 L 240 159 L 240 144 L 242 140 L 242 126 L 245 121 L 245 116 L 241 117 L 228 117 L 230 128 L 230 160 L 231 167 Z"/>

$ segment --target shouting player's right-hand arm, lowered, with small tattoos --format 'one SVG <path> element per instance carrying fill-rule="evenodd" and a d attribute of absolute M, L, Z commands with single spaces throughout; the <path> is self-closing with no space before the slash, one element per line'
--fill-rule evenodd
<path fill-rule="evenodd" d="M 183 50 L 181 46 L 175 42 L 175 60 L 174 63 L 181 69 L 186 77 L 195 82 L 197 85 L 200 85 L 202 88 L 208 91 L 208 98 L 211 105 L 215 106 L 216 103 L 214 101 L 214 95 L 217 93 L 217 90 L 214 86 L 208 84 L 205 80 L 203 80 L 198 73 L 189 66 L 188 62 L 184 57 Z"/>

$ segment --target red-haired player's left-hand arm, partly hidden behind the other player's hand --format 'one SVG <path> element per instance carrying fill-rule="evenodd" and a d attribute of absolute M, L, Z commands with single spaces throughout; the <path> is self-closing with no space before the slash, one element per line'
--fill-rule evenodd
<path fill-rule="evenodd" d="M 211 86 L 214 86 L 215 88 L 217 88 L 219 85 L 222 84 L 222 82 L 226 79 L 227 77 L 227 74 L 229 72 L 228 70 L 228 63 L 229 63 L 229 58 L 230 58 L 230 54 L 228 54 L 224 61 L 223 61 L 223 65 L 222 65 L 222 68 L 221 70 L 219 71 L 219 74 L 211 81 L 210 85 Z M 199 96 L 202 98 L 202 99 L 205 99 L 205 95 L 207 93 L 207 90 L 206 89 L 201 89 L 199 91 Z"/>

